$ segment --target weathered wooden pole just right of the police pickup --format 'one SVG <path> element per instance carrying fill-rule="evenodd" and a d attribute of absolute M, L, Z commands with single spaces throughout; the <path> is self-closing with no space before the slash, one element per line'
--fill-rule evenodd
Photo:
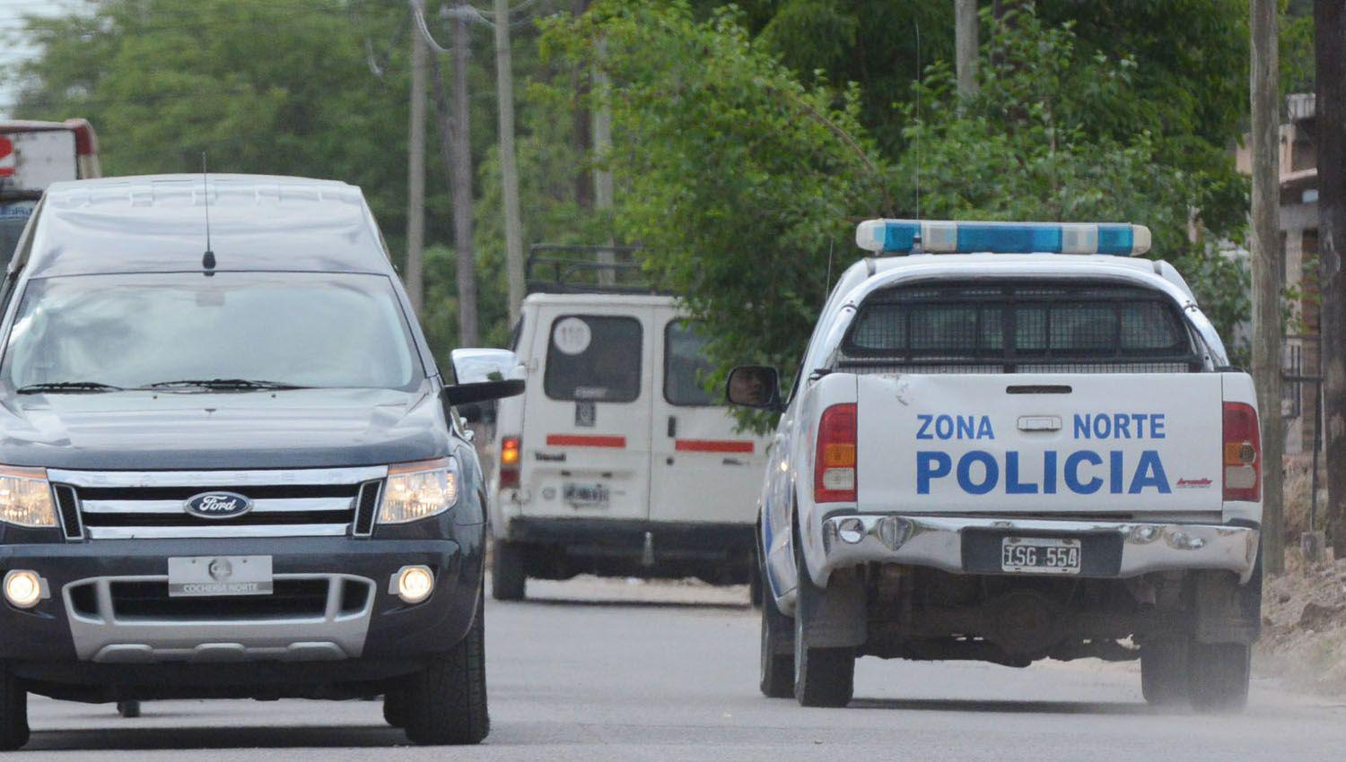
<path fill-rule="evenodd" d="M 1263 566 L 1285 570 L 1284 465 L 1285 422 L 1281 418 L 1281 316 L 1279 204 L 1280 204 L 1280 97 L 1277 63 L 1277 0 L 1249 0 L 1252 28 L 1253 155 L 1253 382 L 1261 417 Z"/>

